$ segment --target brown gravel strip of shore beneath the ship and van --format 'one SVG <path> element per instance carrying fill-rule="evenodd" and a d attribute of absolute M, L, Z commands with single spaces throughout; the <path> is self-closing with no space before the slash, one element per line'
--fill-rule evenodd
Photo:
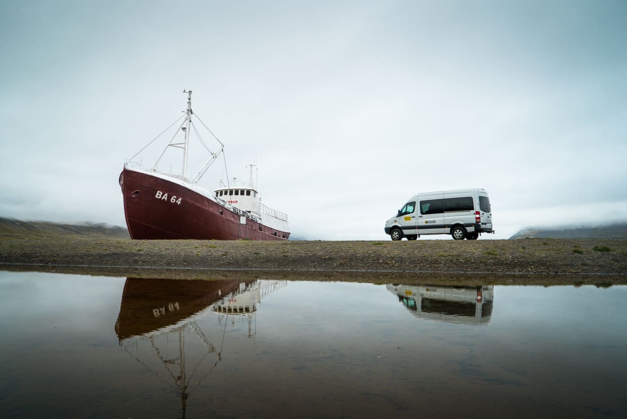
<path fill-rule="evenodd" d="M 0 240 L 0 269 L 159 278 L 627 284 L 627 240 Z"/>

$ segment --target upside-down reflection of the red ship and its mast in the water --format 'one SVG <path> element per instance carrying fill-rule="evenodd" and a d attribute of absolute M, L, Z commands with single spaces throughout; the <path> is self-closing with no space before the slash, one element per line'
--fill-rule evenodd
<path fill-rule="evenodd" d="M 251 324 L 261 299 L 285 285 L 277 280 L 127 278 L 115 332 L 130 356 L 181 396 L 185 417 L 187 396 L 222 358 L 227 324 L 247 321 L 248 337 L 254 338 Z M 219 326 L 219 335 L 211 339 L 199 325 L 208 316 Z M 199 359 L 186 355 L 186 343 Z"/>

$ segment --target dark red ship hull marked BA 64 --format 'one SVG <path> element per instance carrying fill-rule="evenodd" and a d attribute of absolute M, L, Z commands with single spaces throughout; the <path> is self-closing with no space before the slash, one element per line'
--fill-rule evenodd
<path fill-rule="evenodd" d="M 290 233 L 262 225 L 192 189 L 126 167 L 120 174 L 124 215 L 138 240 L 287 240 Z"/>

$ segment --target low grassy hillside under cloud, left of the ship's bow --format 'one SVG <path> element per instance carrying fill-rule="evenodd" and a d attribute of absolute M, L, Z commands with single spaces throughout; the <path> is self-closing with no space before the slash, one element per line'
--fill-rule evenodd
<path fill-rule="evenodd" d="M 49 221 L 22 221 L 0 217 L 0 240 L 76 235 L 98 238 L 130 238 L 129 231 L 125 227 L 102 223 L 60 224 Z"/>

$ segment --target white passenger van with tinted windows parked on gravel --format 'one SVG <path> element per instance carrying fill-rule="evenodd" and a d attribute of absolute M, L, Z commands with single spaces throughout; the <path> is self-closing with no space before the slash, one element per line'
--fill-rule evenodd
<path fill-rule="evenodd" d="M 476 240 L 481 233 L 494 233 L 490 198 L 485 189 L 420 193 L 386 221 L 385 231 L 392 240 L 416 240 L 421 234 Z"/>

